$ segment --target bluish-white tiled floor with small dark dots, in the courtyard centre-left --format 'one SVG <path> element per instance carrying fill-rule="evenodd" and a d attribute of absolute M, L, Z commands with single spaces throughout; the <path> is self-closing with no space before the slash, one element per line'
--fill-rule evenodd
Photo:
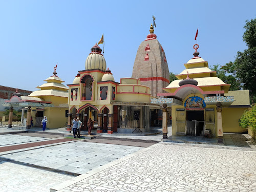
<path fill-rule="evenodd" d="M 137 146 L 76 141 L 1 157 L 38 166 L 84 174 L 95 167 L 140 150 Z"/>

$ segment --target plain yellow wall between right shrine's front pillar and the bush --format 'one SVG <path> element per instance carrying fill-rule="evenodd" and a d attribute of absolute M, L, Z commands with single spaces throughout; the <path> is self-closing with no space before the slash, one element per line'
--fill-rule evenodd
<path fill-rule="evenodd" d="M 247 131 L 239 126 L 238 120 L 247 108 L 222 108 L 222 126 L 224 133 L 242 133 Z"/>

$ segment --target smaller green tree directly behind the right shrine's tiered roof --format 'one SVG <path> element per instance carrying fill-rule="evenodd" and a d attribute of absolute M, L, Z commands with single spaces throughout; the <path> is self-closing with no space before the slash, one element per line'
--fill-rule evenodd
<path fill-rule="evenodd" d="M 223 82 L 231 84 L 229 88 L 230 91 L 241 90 L 241 82 L 238 78 L 236 78 L 234 73 L 231 72 L 232 68 L 230 67 L 230 62 L 226 63 L 226 66 L 222 66 L 221 68 L 220 65 L 217 64 L 214 65 L 214 67 L 210 67 L 210 69 L 212 71 L 216 71 L 217 77 L 219 77 Z"/>

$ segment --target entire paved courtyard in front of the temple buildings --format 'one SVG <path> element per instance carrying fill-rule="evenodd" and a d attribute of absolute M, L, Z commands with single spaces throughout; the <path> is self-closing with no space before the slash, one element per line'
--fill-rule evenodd
<path fill-rule="evenodd" d="M 0 135 L 0 191 L 256 191 L 256 146 L 246 134 L 225 134 L 226 145 L 109 137 Z"/>

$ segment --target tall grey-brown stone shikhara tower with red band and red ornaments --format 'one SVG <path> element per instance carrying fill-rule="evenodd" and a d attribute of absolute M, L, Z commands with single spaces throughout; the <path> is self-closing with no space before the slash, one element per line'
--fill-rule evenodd
<path fill-rule="evenodd" d="M 157 40 L 151 24 L 150 34 L 141 42 L 133 66 L 133 78 L 151 88 L 151 95 L 165 93 L 162 88 L 169 84 L 169 69 L 164 50 Z"/>

